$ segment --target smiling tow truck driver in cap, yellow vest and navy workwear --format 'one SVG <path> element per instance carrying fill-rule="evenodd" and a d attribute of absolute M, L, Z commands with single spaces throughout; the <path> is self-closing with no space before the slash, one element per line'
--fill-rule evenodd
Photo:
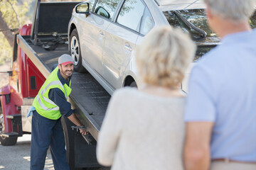
<path fill-rule="evenodd" d="M 82 126 L 67 101 L 72 90 L 72 74 L 72 57 L 61 55 L 58 67 L 50 73 L 33 101 L 31 169 L 43 170 L 49 146 L 54 169 L 70 169 L 66 161 L 65 139 L 60 118 L 66 116 L 75 125 Z M 87 133 L 81 129 L 80 132 L 83 135 Z"/>

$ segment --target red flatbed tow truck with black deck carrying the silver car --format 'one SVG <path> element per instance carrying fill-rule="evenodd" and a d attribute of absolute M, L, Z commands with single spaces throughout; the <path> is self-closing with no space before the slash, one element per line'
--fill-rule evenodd
<path fill-rule="evenodd" d="M 50 74 L 58 57 L 69 54 L 68 21 L 79 2 L 41 2 L 38 0 L 33 24 L 19 30 L 9 84 L 0 89 L 1 145 L 15 145 L 17 137 L 31 133 L 31 117 L 26 118 L 33 98 Z M 62 118 L 70 169 L 98 167 L 95 149 L 110 94 L 89 72 L 74 72 L 68 98 L 75 115 L 90 132 L 80 135 L 68 118 Z"/>

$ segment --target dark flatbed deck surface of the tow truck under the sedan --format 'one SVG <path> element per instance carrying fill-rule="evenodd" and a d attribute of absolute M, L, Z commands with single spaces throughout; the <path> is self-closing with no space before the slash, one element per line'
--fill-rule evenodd
<path fill-rule="evenodd" d="M 53 64 L 58 63 L 58 57 L 69 54 L 67 44 L 58 44 L 55 50 L 46 50 L 42 46 L 31 43 L 29 36 L 18 36 L 18 44 L 28 57 L 42 72 L 50 74 Z M 25 43 L 26 42 L 26 43 Z M 29 45 L 29 47 L 22 47 Z M 30 52 L 26 52 L 26 49 Z M 38 61 L 36 61 L 38 60 Z M 39 65 L 40 64 L 40 65 Z M 46 76 L 45 76 L 46 77 Z M 68 101 L 73 106 L 75 114 L 87 127 L 92 137 L 97 140 L 97 134 L 110 101 L 110 94 L 92 77 L 89 72 L 74 72 Z"/>

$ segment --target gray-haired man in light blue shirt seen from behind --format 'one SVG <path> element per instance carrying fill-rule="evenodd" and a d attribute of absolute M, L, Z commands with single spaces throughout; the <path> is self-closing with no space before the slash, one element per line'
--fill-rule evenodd
<path fill-rule="evenodd" d="M 255 0 L 205 0 L 221 45 L 191 72 L 186 103 L 185 168 L 256 169 Z"/>

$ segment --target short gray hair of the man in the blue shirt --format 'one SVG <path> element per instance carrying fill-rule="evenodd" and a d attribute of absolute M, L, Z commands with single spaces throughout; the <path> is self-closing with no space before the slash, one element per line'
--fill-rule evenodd
<path fill-rule="evenodd" d="M 256 0 L 204 0 L 210 11 L 234 23 L 245 21 L 255 11 Z"/>

